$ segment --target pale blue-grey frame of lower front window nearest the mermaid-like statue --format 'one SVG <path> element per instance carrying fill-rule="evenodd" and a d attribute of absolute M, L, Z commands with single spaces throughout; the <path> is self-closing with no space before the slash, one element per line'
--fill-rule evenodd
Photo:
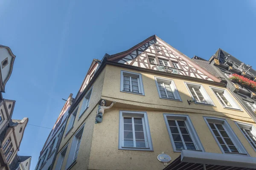
<path fill-rule="evenodd" d="M 124 132 L 124 122 L 123 117 L 141 117 L 143 118 L 143 131 L 144 131 L 144 138 L 146 147 L 123 147 L 123 132 Z M 120 111 L 119 112 L 119 143 L 118 143 L 119 150 L 145 150 L 145 151 L 153 151 L 153 145 L 151 140 L 150 129 L 148 125 L 148 116 L 146 112 L 139 112 L 139 111 Z"/>

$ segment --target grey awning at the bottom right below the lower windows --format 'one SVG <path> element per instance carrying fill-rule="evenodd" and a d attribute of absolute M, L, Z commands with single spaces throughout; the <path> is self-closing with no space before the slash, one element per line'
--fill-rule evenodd
<path fill-rule="evenodd" d="M 181 155 L 163 170 L 256 170 L 256 158 L 182 150 Z"/>

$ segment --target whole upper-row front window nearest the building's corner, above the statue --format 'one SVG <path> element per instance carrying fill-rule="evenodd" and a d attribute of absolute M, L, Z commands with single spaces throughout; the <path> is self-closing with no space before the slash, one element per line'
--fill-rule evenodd
<path fill-rule="evenodd" d="M 141 74 L 121 71 L 121 91 L 144 95 Z"/>

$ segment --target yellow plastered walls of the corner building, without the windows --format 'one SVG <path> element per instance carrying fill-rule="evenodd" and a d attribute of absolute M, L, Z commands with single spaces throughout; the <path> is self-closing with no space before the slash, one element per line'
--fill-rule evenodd
<path fill-rule="evenodd" d="M 145 96 L 120 92 L 121 70 L 142 74 Z M 154 76 L 174 80 L 183 102 L 160 99 Z M 184 81 L 203 85 L 210 98 L 215 103 L 215 107 L 198 104 L 188 105 L 186 100 L 191 100 L 192 97 L 190 96 Z M 87 167 L 89 170 L 163 169 L 163 163 L 157 160 L 158 154 L 165 152 L 172 157 L 172 160 L 180 156 L 179 152 L 173 152 L 163 113 L 189 115 L 204 150 L 212 153 L 221 153 L 221 150 L 212 136 L 206 122 L 204 121 L 203 116 L 226 119 L 249 155 L 256 157 L 256 152 L 253 150 L 249 142 L 247 142 L 234 121 L 249 123 L 253 124 L 254 126 L 256 126 L 256 124 L 253 123 L 253 120 L 244 111 L 236 99 L 235 100 L 241 108 L 241 111 L 223 108 L 216 96 L 210 90 L 209 86 L 216 87 L 214 85 L 208 85 L 201 82 L 193 82 L 177 78 L 173 79 L 171 77 L 163 77 L 146 72 L 142 73 L 126 68 L 106 65 L 105 69 L 94 83 L 89 108 L 81 119 L 77 121 L 80 113 L 80 105 L 78 115 L 75 120 L 75 125 L 72 129 L 72 132 L 74 133 L 69 133 L 66 137 L 64 137 L 64 139 L 62 139 L 58 154 L 59 151 L 62 150 L 63 147 L 69 142 L 62 168 L 64 168 L 66 165 L 65 162 L 67 161 L 70 146 L 73 141 L 73 135 L 85 122 L 79 154 L 76 160 L 77 162 L 71 168 L 72 170 L 87 169 Z M 230 92 L 229 94 L 233 96 Z M 113 106 L 113 108 L 105 111 L 102 123 L 94 124 L 97 102 L 100 98 L 107 99 L 108 105 L 110 104 L 110 101 L 113 100 L 117 101 L 117 103 Z M 154 151 L 118 150 L 120 110 L 147 112 Z M 87 115 L 89 116 L 87 117 Z M 87 119 L 85 120 L 86 117 Z M 67 124 L 68 123 L 69 120 Z M 55 159 L 55 164 L 57 161 L 58 155 Z M 53 169 L 54 168 L 55 165 L 53 166 Z"/>

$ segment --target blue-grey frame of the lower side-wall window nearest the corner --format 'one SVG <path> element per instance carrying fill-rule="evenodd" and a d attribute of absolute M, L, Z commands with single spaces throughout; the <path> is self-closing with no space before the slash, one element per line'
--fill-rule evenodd
<path fill-rule="evenodd" d="M 76 152 L 76 146 L 77 146 L 77 141 L 78 141 L 78 137 L 81 136 L 81 139 L 83 137 L 83 131 L 84 131 L 84 125 L 82 125 L 82 127 L 78 130 L 78 132 L 74 135 L 74 138 L 73 138 L 73 142 L 71 144 L 71 147 L 70 147 L 70 152 L 69 152 L 69 155 L 68 155 L 68 158 L 67 158 L 67 164 L 66 164 L 66 170 L 70 167 L 71 164 L 73 164 L 73 162 L 76 161 L 75 158 L 75 152 Z M 81 141 L 80 141 L 81 142 Z"/>

